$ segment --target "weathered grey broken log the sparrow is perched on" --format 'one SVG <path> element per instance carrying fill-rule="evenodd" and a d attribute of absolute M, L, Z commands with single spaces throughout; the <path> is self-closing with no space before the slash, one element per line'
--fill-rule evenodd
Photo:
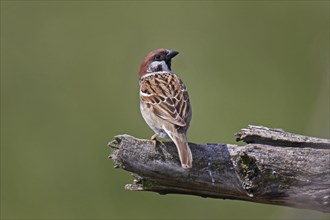
<path fill-rule="evenodd" d="M 249 144 L 189 143 L 194 161 L 188 170 L 181 168 L 173 143 L 154 147 L 129 135 L 109 143 L 114 149 L 109 157 L 116 167 L 134 173 L 127 190 L 330 212 L 330 140 L 262 126 L 249 126 L 236 137 Z"/>

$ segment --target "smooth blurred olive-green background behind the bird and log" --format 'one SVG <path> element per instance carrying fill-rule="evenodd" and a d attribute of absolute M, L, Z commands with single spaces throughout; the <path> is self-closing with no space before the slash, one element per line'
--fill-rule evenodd
<path fill-rule="evenodd" d="M 123 189 L 107 142 L 152 135 L 138 69 L 160 47 L 180 51 L 191 142 L 248 124 L 329 138 L 328 1 L 1 1 L 1 218 L 328 219 Z"/>

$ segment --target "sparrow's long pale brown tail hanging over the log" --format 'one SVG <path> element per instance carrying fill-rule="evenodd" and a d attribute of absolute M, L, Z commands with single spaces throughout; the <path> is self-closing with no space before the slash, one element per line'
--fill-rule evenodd
<path fill-rule="evenodd" d="M 181 166 L 183 168 L 192 168 L 192 154 L 188 145 L 186 134 L 179 133 L 172 138 L 178 149 Z"/>

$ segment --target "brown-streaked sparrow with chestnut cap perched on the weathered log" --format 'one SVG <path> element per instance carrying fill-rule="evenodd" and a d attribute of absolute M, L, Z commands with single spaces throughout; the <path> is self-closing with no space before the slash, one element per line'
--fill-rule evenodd
<path fill-rule="evenodd" d="M 142 60 L 139 72 L 141 114 L 155 132 L 151 137 L 171 139 L 178 150 L 181 166 L 192 167 L 187 130 L 192 110 L 186 86 L 172 72 L 171 60 L 179 52 L 168 49 L 151 51 Z"/>

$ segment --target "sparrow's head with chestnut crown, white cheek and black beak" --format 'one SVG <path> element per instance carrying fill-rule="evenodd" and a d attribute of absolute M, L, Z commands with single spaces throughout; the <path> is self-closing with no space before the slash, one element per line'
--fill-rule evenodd
<path fill-rule="evenodd" d="M 178 55 L 179 52 L 168 49 L 157 49 L 148 53 L 142 60 L 139 72 L 139 78 L 154 72 L 171 73 L 171 60 Z"/>

